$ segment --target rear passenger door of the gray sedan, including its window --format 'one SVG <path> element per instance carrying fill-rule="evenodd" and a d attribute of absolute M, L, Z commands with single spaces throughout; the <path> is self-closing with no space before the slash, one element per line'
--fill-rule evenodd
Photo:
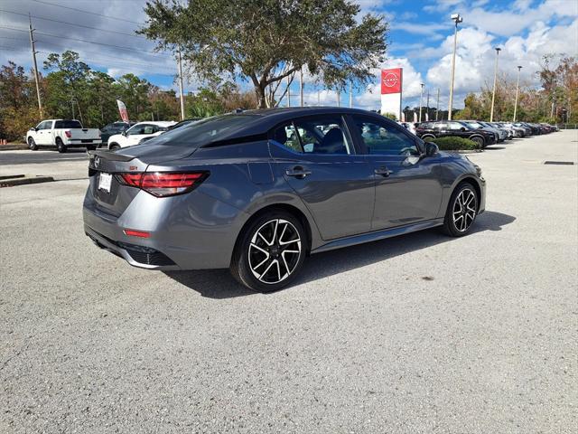
<path fill-rule="evenodd" d="M 339 115 L 297 118 L 270 135 L 275 172 L 312 213 L 323 240 L 367 232 L 375 188 L 365 156 L 357 155 Z"/>

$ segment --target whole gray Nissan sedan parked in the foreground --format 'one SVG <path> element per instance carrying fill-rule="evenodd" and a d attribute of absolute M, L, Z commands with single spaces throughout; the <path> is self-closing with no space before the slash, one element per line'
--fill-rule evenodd
<path fill-rule="evenodd" d="M 480 167 L 359 109 L 249 110 L 89 156 L 98 247 L 144 269 L 229 268 L 258 291 L 313 253 L 434 226 L 465 235 L 485 206 Z"/>

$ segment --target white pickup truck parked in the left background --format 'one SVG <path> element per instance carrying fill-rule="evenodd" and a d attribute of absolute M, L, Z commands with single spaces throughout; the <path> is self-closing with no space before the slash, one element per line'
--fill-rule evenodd
<path fill-rule="evenodd" d="M 66 152 L 72 146 L 93 150 L 102 140 L 98 128 L 83 128 L 76 119 L 48 119 L 28 130 L 26 143 L 33 151 L 39 146 L 56 146 L 58 152 Z"/>

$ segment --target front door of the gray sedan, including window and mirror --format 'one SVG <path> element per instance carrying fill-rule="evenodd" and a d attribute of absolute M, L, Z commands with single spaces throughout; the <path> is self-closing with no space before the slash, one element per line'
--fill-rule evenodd
<path fill-rule="evenodd" d="M 371 229 L 435 218 L 443 192 L 439 158 L 423 156 L 416 137 L 394 122 L 360 115 L 351 119 L 375 179 Z"/>

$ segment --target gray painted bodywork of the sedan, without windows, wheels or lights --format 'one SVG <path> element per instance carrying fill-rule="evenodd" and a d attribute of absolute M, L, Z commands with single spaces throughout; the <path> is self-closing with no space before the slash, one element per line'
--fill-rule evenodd
<path fill-rule="evenodd" d="M 409 162 L 369 155 L 303 155 L 258 137 L 287 119 L 307 114 L 361 113 L 383 119 L 378 115 L 355 109 L 258 113 L 264 114 L 237 133 L 257 137 L 254 141 L 235 143 L 235 137 L 228 137 L 233 143 L 194 149 L 151 140 L 116 152 L 90 153 L 91 176 L 83 212 L 87 234 L 138 267 L 212 269 L 229 266 L 244 225 L 270 206 L 284 206 L 303 219 L 312 253 L 443 224 L 452 191 L 463 179 L 479 189 L 483 212 L 485 182 L 475 166 L 459 155 L 440 152 L 410 157 Z M 374 173 L 384 164 L 392 169 L 387 178 Z M 286 170 L 296 165 L 311 170 L 311 175 L 287 176 Z M 207 171 L 210 175 L 191 193 L 170 197 L 155 197 L 119 184 L 115 178 L 110 193 L 98 191 L 102 172 L 144 171 Z M 129 237 L 126 229 L 150 232 L 150 238 Z M 122 243 L 158 250 L 174 264 L 139 263 L 118 245 Z"/>

